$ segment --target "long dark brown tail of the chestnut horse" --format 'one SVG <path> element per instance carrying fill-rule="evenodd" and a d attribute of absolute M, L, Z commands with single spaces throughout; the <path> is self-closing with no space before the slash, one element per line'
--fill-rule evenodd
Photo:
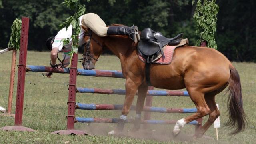
<path fill-rule="evenodd" d="M 230 64 L 230 78 L 228 80 L 228 113 L 229 118 L 226 126 L 231 128 L 236 127 L 236 129 L 230 134 L 237 134 L 242 132 L 247 124 L 247 117 L 243 109 L 243 99 L 242 99 L 242 88 L 240 82 L 240 76 L 237 70 Z M 236 126 L 237 125 L 237 126 Z"/>

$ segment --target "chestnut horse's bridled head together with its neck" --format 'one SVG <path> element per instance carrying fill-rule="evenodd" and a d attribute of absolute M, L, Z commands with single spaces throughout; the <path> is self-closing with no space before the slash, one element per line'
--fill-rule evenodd
<path fill-rule="evenodd" d="M 112 24 L 112 26 L 123 26 L 121 24 Z M 104 48 L 109 49 L 118 58 L 119 54 L 124 55 L 127 50 L 131 50 L 133 46 L 132 40 L 126 35 L 111 35 L 100 37 L 89 28 L 84 28 L 86 34 L 84 35 L 84 54 L 82 67 L 86 70 L 95 68 L 95 63 L 102 54 Z"/>

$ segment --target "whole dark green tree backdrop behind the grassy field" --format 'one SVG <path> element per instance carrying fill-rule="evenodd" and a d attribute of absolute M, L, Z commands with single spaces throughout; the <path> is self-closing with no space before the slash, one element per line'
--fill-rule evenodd
<path fill-rule="evenodd" d="M 0 48 L 7 48 L 10 26 L 15 18 L 30 18 L 28 49 L 46 51 L 45 41 L 58 32 L 58 25 L 74 12 L 60 4 L 64 0 L 0 0 Z M 150 27 L 166 37 L 181 32 L 194 45 L 198 36 L 192 18 L 192 0 L 80 0 L 86 12 L 98 14 L 107 25 L 112 23 L 139 30 Z M 197 0 L 195 0 L 197 1 Z M 195 2 L 196 3 L 196 2 Z M 216 0 L 219 13 L 215 33 L 218 49 L 229 60 L 256 62 L 256 7 L 254 0 Z"/>

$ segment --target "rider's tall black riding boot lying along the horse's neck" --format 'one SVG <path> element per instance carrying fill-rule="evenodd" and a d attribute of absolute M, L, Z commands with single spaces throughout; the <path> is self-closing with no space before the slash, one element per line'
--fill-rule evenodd
<path fill-rule="evenodd" d="M 109 26 L 107 30 L 108 35 L 128 35 L 135 43 L 140 40 L 137 26 Z"/>

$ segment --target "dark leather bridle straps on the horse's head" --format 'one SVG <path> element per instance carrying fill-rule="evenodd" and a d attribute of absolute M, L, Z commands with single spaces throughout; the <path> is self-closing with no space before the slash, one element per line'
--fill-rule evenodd
<path fill-rule="evenodd" d="M 100 42 L 98 42 L 96 39 L 94 39 L 92 37 L 92 31 L 89 30 L 88 33 L 86 33 L 84 36 L 90 36 L 89 40 L 87 40 L 86 42 L 86 53 L 83 54 L 83 56 L 85 56 L 85 58 L 83 58 L 84 60 L 86 60 L 86 62 L 90 62 L 90 60 L 88 59 L 88 57 L 98 61 L 98 58 L 94 58 L 91 54 L 90 54 L 90 44 L 91 44 L 91 40 L 94 40 L 94 42 L 96 42 L 96 44 L 98 44 L 99 46 L 101 46 L 104 49 L 104 46 L 102 44 L 100 44 Z M 84 66 L 84 64 L 82 63 L 82 65 Z"/>

